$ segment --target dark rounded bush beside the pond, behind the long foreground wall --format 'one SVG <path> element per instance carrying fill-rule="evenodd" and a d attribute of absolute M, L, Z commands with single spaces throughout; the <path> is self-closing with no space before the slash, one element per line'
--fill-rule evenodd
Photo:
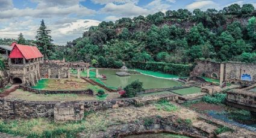
<path fill-rule="evenodd" d="M 143 83 L 139 82 L 139 80 L 130 83 L 130 85 L 124 88 L 125 94 L 123 94 L 122 97 L 136 97 L 137 93 L 144 91 L 142 86 Z"/>

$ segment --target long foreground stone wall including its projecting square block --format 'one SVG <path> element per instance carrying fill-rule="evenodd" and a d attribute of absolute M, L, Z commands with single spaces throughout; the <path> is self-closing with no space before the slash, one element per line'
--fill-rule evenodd
<path fill-rule="evenodd" d="M 131 105 L 146 105 L 161 99 L 175 101 L 176 94 L 117 98 L 104 101 L 25 101 L 0 98 L 0 119 L 55 118 L 57 121 L 83 119 L 84 110 L 105 110 Z"/>

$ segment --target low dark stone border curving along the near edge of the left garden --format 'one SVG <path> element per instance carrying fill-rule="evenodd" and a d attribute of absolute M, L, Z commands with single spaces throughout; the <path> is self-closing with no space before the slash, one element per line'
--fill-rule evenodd
<path fill-rule="evenodd" d="M 86 90 L 44 90 L 44 89 L 34 89 L 29 86 L 19 85 L 19 89 L 23 91 L 34 92 L 35 94 L 87 94 L 93 95 L 92 89 Z"/>

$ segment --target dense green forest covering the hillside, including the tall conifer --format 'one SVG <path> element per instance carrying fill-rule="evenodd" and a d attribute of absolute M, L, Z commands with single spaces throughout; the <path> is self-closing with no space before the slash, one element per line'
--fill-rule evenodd
<path fill-rule="evenodd" d="M 83 37 L 67 42 L 66 46 L 52 45 L 43 54 L 49 59 L 85 61 L 107 68 L 118 68 L 131 61 L 256 62 L 255 16 L 252 4 L 233 4 L 219 11 L 179 9 L 104 21 L 84 32 Z"/>

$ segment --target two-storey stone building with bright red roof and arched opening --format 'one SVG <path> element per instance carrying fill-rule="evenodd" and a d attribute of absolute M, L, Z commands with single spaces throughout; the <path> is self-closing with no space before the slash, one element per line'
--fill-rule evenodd
<path fill-rule="evenodd" d="M 37 47 L 14 44 L 8 57 L 10 83 L 34 86 L 40 79 L 40 61 L 43 55 Z"/>

